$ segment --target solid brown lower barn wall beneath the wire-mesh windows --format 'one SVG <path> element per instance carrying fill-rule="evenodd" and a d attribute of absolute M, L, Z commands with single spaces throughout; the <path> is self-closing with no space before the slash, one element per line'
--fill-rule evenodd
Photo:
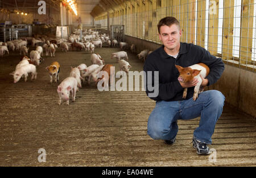
<path fill-rule="evenodd" d="M 161 46 L 128 35 L 125 36 L 125 42 L 135 44 L 137 53 L 144 49 L 154 51 Z M 220 80 L 209 86 L 208 89 L 219 90 L 226 97 L 227 104 L 256 117 L 256 73 L 225 64 L 225 70 Z"/>

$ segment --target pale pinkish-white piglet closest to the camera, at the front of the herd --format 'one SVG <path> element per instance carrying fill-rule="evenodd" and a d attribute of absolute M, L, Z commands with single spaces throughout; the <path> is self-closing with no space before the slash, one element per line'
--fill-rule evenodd
<path fill-rule="evenodd" d="M 77 80 L 74 77 L 65 78 L 57 88 L 59 94 L 59 105 L 61 100 L 65 100 L 69 105 L 69 94 L 72 96 L 72 101 L 76 100 Z"/>

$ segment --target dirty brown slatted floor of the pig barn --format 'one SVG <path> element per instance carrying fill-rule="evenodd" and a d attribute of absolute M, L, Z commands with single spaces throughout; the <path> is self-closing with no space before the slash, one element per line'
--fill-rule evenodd
<path fill-rule="evenodd" d="M 31 48 L 32 49 L 32 48 Z M 110 53 L 118 48 L 96 48 L 106 64 L 119 71 Z M 142 71 L 136 54 L 127 52 L 131 71 Z M 69 76 L 71 66 L 90 65 L 90 53 L 61 52 L 46 57 L 37 68 L 38 78 L 14 84 L 19 52 L 0 58 L 0 166 L 212 166 L 256 165 L 255 121 L 234 114 L 229 107 L 216 125 L 213 144 L 217 162 L 199 156 L 192 148 L 192 133 L 199 118 L 179 121 L 177 142 L 167 146 L 147 135 L 147 118 L 155 102 L 140 91 L 100 92 L 83 84 L 76 101 L 57 105 L 57 85 Z M 49 82 L 46 67 L 61 65 L 60 82 Z M 143 83 L 142 83 L 143 84 Z M 46 151 L 46 162 L 38 158 Z M 40 157 L 42 158 L 42 157 Z"/>

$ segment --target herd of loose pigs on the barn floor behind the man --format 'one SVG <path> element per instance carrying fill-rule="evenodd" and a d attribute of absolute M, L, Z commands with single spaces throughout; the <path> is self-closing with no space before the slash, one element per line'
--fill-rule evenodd
<path fill-rule="evenodd" d="M 75 31 L 76 32 L 76 31 Z M 28 56 L 27 45 L 31 42 L 31 46 L 35 47 L 35 50 L 30 51 L 30 58 Z M 67 52 L 69 48 L 72 50 L 85 50 L 90 51 L 90 61 L 91 65 L 86 66 L 86 64 L 80 64 L 77 67 L 71 67 L 71 72 L 69 77 L 61 81 L 60 85 L 57 86 L 57 93 L 59 94 L 59 105 L 61 101 L 66 101 L 66 104 L 69 105 L 69 97 L 72 101 L 75 101 L 76 92 L 79 91 L 79 88 L 82 88 L 81 83 L 87 82 L 90 85 L 90 81 L 93 80 L 98 82 L 101 80 L 104 81 L 104 84 L 109 84 L 111 80 L 110 73 L 112 72 L 113 65 L 105 64 L 104 59 L 98 53 L 94 53 L 95 46 L 102 48 L 102 44 L 108 45 L 108 47 L 117 47 L 117 40 L 110 40 L 109 36 L 106 34 L 99 35 L 98 32 L 92 30 L 83 30 L 82 38 L 81 35 L 76 35 L 76 33 L 69 36 L 69 40 L 65 39 L 56 39 L 51 38 L 46 35 L 38 35 L 34 37 L 27 37 L 23 39 L 16 39 L 9 42 L 0 42 L 0 56 L 3 57 L 6 53 L 9 54 L 9 50 L 15 51 L 18 50 L 22 59 L 15 67 L 15 71 L 10 73 L 14 77 L 14 83 L 18 82 L 20 78 L 24 77 L 24 81 L 27 81 L 28 73 L 31 73 L 31 80 L 36 80 L 37 72 L 36 66 L 39 66 L 42 63 L 43 51 L 45 51 L 46 56 L 51 55 L 55 57 L 56 48 L 60 48 L 61 51 Z M 130 49 L 131 52 L 135 53 L 135 45 L 125 42 L 119 42 L 119 48 L 121 51 L 112 53 L 110 58 L 117 59 L 119 70 L 128 73 L 131 65 L 129 64 L 129 58 L 127 52 L 123 50 Z M 152 51 L 145 49 L 141 51 L 137 56 L 139 59 L 144 61 Z M 59 81 L 61 65 L 58 61 L 54 61 L 51 65 L 46 67 L 46 70 L 49 73 L 50 82 L 53 80 L 55 82 Z M 99 76 L 98 74 L 101 71 L 108 73 L 107 76 Z M 103 85 L 103 84 L 102 84 Z"/>

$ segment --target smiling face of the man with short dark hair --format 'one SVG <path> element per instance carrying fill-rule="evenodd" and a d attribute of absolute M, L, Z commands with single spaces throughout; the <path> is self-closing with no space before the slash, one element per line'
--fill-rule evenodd
<path fill-rule="evenodd" d="M 175 49 L 180 44 L 181 30 L 176 24 L 160 27 L 159 39 L 167 49 Z"/>

